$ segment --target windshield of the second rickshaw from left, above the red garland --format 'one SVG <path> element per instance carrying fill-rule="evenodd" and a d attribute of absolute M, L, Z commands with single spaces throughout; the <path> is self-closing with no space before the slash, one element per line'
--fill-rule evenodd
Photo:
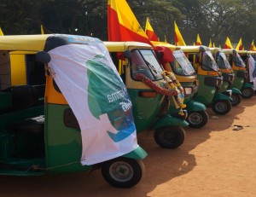
<path fill-rule="evenodd" d="M 160 66 L 160 63 L 157 61 L 151 49 L 131 50 L 131 60 L 132 78 L 136 79 L 136 74 L 142 73 L 153 81 L 163 79 L 161 74 L 163 68 Z"/>

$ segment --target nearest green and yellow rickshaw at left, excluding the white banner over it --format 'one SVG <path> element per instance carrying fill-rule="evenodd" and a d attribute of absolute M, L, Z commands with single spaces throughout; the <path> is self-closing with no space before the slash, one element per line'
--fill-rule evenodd
<path fill-rule="evenodd" d="M 53 39 L 59 42 L 52 43 Z M 45 173 L 88 171 L 93 167 L 94 164 L 81 164 L 83 141 L 79 121 L 53 79 L 55 72 L 49 69 L 47 64 L 53 59 L 50 60 L 49 55 L 43 55 L 41 59 L 39 57 L 41 62 L 35 61 L 37 55 L 42 54 L 39 51 L 51 51 L 63 45 L 76 45 L 69 45 L 69 42 L 79 43 L 78 46 L 94 42 L 104 45 L 97 38 L 64 34 L 0 38 L 0 52 L 8 57 L 5 60 L 0 59 L 3 68 L 1 72 L 8 76 L 0 78 L 1 175 L 35 176 Z M 42 57 L 49 57 L 49 60 L 42 62 Z M 21 78 L 19 71 L 24 71 L 20 72 Z M 127 106 L 125 109 L 128 110 Z M 134 160 L 146 156 L 146 152 L 139 146 L 119 155 L 120 158 Z M 115 159 L 119 159 L 118 156 Z M 106 181 L 115 187 L 131 187 L 137 184 L 142 176 L 141 174 L 136 177 L 137 180 L 130 183 L 119 182 L 118 178 L 112 179 L 108 176 L 108 167 L 104 163 L 108 163 L 108 160 L 98 163 L 104 166 L 102 174 L 104 178 L 107 176 Z M 130 161 L 127 161 L 128 163 L 131 164 Z M 143 165 L 140 164 L 137 169 L 138 173 L 142 173 Z"/>

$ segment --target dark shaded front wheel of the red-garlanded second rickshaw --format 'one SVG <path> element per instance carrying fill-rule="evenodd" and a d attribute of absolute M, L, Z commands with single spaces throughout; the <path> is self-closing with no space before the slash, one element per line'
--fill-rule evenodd
<path fill-rule="evenodd" d="M 163 126 L 154 130 L 154 141 L 161 148 L 178 148 L 183 144 L 185 136 L 185 130 L 181 126 Z"/>

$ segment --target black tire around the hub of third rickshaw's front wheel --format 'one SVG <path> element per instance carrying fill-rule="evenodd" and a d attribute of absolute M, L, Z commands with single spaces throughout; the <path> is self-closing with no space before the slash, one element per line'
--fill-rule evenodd
<path fill-rule="evenodd" d="M 191 121 L 191 116 L 193 115 L 200 116 L 201 121 L 198 124 L 195 124 L 195 121 Z M 186 119 L 186 121 L 189 123 L 190 128 L 201 128 L 207 125 L 208 120 L 209 120 L 209 116 L 206 111 L 189 112 L 188 117 Z"/>

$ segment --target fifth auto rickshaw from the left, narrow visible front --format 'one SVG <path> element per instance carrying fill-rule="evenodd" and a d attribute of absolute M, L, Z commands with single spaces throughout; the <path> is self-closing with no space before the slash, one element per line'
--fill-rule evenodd
<path fill-rule="evenodd" d="M 230 88 L 234 82 L 235 73 L 230 66 L 230 62 L 227 60 L 226 55 L 220 48 L 210 48 L 214 60 L 216 61 L 218 68 L 223 76 L 223 84 L 219 90 L 219 92 L 223 92 L 224 94 L 229 94 L 226 90 L 231 90 L 231 98 L 232 106 L 237 106 L 241 102 L 241 91 L 236 88 Z"/>

